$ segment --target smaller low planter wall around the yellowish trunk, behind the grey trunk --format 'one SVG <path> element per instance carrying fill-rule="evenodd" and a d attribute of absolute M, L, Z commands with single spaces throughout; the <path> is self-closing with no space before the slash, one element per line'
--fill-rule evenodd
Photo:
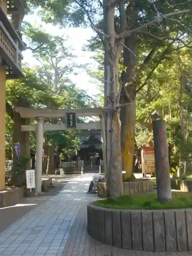
<path fill-rule="evenodd" d="M 106 197 L 106 183 L 99 182 L 97 184 L 99 197 Z M 136 181 L 123 182 L 123 194 L 140 194 L 153 191 L 153 180 L 151 179 L 138 179 Z"/>

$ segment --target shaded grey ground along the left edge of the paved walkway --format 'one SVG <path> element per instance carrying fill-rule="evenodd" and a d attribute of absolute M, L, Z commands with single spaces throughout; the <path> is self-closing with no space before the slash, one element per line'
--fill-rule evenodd
<path fill-rule="evenodd" d="M 8 228 L 13 222 L 26 215 L 30 210 L 37 207 L 37 205 L 44 203 L 51 197 L 57 195 L 59 191 L 68 183 L 71 179 L 78 175 L 65 175 L 49 176 L 52 177 L 53 186 L 46 191 L 43 196 L 40 197 L 24 197 L 16 205 L 0 208 L 0 232 Z M 46 177 L 46 176 L 45 176 Z"/>

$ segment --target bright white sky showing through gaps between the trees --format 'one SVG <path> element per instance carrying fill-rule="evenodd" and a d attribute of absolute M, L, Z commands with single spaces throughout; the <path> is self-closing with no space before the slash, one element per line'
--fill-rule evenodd
<path fill-rule="evenodd" d="M 30 22 L 35 27 L 42 26 L 45 32 L 50 33 L 53 36 L 67 36 L 67 45 L 70 49 L 74 49 L 73 53 L 77 56 L 76 63 L 79 65 L 89 63 L 89 66 L 92 70 L 97 69 L 97 62 L 91 58 L 94 53 L 82 51 L 82 47 L 87 44 L 87 40 L 94 35 L 94 32 L 91 28 L 59 29 L 57 26 L 53 26 L 52 24 L 42 23 L 40 18 L 35 13 L 32 15 L 26 15 L 24 20 Z M 28 63 L 29 66 L 36 66 L 39 64 L 39 62 L 33 57 L 33 54 L 30 50 L 24 51 L 23 55 L 23 62 Z M 99 81 L 90 77 L 83 69 L 78 69 L 77 75 L 70 75 L 70 79 L 76 84 L 78 88 L 86 90 L 90 96 L 94 96 L 99 93 L 95 85 L 95 83 L 99 83 Z M 92 82 L 94 82 L 94 84 Z"/>

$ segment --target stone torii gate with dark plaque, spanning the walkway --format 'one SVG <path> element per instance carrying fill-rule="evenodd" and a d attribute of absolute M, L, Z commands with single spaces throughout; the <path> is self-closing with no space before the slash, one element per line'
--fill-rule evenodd
<path fill-rule="evenodd" d="M 42 176 L 42 154 L 45 131 L 63 131 L 68 129 L 76 130 L 101 130 L 102 151 L 104 160 L 104 170 L 106 170 L 106 140 L 104 128 L 104 116 L 101 108 L 86 109 L 31 109 L 16 107 L 15 111 L 22 118 L 35 118 L 37 123 L 22 125 L 22 131 L 37 131 L 36 136 L 36 165 L 35 165 L 35 192 L 41 193 L 41 176 Z M 44 124 L 45 118 L 71 117 L 72 125 L 66 124 Z M 76 123 L 77 117 L 99 116 L 100 122 L 93 123 Z M 67 119 L 67 118 L 66 118 Z"/>

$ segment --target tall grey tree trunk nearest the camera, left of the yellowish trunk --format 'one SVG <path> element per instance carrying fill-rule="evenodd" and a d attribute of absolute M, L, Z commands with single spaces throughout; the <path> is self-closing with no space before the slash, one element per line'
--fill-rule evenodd
<path fill-rule="evenodd" d="M 114 7 L 109 8 L 111 0 L 103 0 L 104 13 L 104 95 L 105 95 L 105 132 L 106 132 L 106 185 L 109 197 L 122 194 L 120 119 L 118 92 L 118 49 L 115 41 Z"/>

